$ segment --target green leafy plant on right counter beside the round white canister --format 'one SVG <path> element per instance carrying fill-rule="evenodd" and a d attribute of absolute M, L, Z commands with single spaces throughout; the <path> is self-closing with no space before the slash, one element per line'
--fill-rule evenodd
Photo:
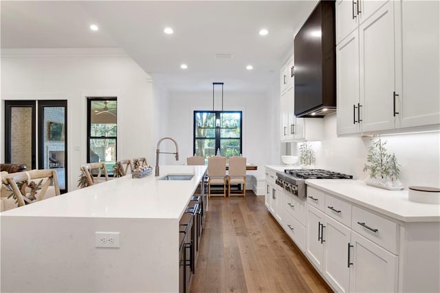
<path fill-rule="evenodd" d="M 369 171 L 371 178 L 395 182 L 400 176 L 400 164 L 394 153 L 390 155 L 387 152 L 386 142 L 380 137 L 377 140 L 375 138 L 371 138 L 373 144 L 369 147 L 369 154 L 366 157 L 366 162 L 369 164 L 364 164 L 364 172 Z"/>

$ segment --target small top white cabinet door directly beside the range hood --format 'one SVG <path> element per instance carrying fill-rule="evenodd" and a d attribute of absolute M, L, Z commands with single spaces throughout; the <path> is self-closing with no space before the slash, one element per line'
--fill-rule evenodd
<path fill-rule="evenodd" d="M 358 28 L 357 1 L 336 1 L 336 44 Z"/>

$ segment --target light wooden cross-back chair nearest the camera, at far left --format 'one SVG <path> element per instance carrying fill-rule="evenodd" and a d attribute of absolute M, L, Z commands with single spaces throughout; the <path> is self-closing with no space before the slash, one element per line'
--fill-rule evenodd
<path fill-rule="evenodd" d="M 2 176 L 1 181 L 8 186 L 18 206 L 61 194 L 57 173 L 52 169 L 11 173 Z"/>

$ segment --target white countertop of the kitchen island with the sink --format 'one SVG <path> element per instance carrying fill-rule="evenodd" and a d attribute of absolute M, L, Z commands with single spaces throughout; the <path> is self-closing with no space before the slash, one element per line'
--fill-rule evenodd
<path fill-rule="evenodd" d="M 179 219 L 206 166 L 160 166 L 159 177 L 127 175 L 0 213 L 1 217 L 111 217 Z M 192 180 L 157 180 L 167 174 Z"/>

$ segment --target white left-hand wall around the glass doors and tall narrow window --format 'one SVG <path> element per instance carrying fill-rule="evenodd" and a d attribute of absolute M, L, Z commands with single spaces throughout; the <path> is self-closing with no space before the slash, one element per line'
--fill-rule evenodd
<path fill-rule="evenodd" d="M 4 100 L 67 100 L 68 188 L 87 160 L 87 96 L 118 97 L 118 159 L 153 158 L 153 84 L 121 50 L 2 50 Z M 148 82 L 150 80 L 150 82 Z M 2 124 L 0 124 L 2 126 Z M 0 162 L 4 162 L 1 127 Z"/>

